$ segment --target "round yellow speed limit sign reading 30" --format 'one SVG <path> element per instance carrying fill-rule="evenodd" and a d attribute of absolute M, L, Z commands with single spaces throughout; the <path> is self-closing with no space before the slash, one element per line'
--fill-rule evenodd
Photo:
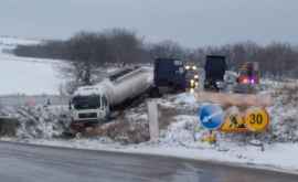
<path fill-rule="evenodd" d="M 247 129 L 254 132 L 266 130 L 270 120 L 267 110 L 258 107 L 248 108 L 244 118 Z"/>

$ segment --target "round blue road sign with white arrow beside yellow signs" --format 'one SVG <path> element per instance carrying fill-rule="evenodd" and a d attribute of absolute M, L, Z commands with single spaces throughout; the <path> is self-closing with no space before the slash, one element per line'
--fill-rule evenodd
<path fill-rule="evenodd" d="M 207 104 L 199 109 L 201 125 L 206 129 L 219 129 L 224 122 L 224 113 L 219 105 Z"/>

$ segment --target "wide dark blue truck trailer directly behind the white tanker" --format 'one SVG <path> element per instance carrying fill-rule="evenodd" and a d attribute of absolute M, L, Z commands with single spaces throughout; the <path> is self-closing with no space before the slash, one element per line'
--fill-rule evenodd
<path fill-rule="evenodd" d="M 187 72 L 182 61 L 177 58 L 157 58 L 155 61 L 153 90 L 160 94 L 180 92 L 187 88 Z"/>

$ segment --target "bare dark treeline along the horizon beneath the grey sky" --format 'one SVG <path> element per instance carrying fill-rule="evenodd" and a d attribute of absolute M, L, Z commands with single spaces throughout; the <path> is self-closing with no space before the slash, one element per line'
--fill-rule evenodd
<path fill-rule="evenodd" d="M 68 61 L 63 72 L 83 85 L 91 84 L 94 73 L 108 64 L 142 64 L 152 63 L 155 57 L 178 57 L 202 65 L 209 54 L 225 55 L 231 69 L 236 71 L 244 62 L 259 62 L 264 75 L 298 77 L 298 49 L 287 43 L 260 46 L 254 42 L 242 42 L 187 49 L 173 41 L 147 43 L 135 32 L 125 29 L 81 32 L 66 41 L 19 45 L 14 54 Z"/>

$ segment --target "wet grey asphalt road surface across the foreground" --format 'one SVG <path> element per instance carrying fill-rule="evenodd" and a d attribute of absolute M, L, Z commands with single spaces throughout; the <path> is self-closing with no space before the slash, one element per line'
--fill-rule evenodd
<path fill-rule="evenodd" d="M 3 182 L 297 182 L 298 175 L 174 158 L 0 142 Z"/>

